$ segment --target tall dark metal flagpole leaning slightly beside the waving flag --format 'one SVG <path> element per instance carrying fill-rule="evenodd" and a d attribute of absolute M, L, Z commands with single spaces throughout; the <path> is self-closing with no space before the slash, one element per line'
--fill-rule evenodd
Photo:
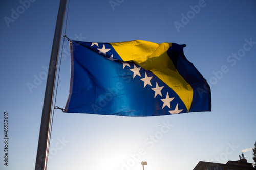
<path fill-rule="evenodd" d="M 48 69 L 45 100 L 42 107 L 41 126 L 38 139 L 37 155 L 35 170 L 45 170 L 47 164 L 47 153 L 49 143 L 49 131 L 51 125 L 51 112 L 54 94 L 54 84 L 57 72 L 57 63 L 59 55 L 59 47 L 61 41 L 61 34 L 63 28 L 63 22 L 65 18 L 67 0 L 60 0 L 59 11 L 56 21 L 56 27 L 53 37 L 52 52 L 50 58 L 50 64 Z"/>

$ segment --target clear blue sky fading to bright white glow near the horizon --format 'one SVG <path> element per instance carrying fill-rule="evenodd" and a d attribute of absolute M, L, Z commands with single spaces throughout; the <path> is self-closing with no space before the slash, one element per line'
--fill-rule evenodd
<path fill-rule="evenodd" d="M 28 2 L 0 2 L 0 169 L 35 166 L 59 1 Z M 48 169 L 133 170 L 142 168 L 141 161 L 148 162 L 145 170 L 193 169 L 199 161 L 239 160 L 256 141 L 256 2 L 113 2 L 116 6 L 109 0 L 71 0 L 67 36 L 88 42 L 186 44 L 186 58 L 211 86 L 212 111 L 122 117 L 56 110 Z M 65 107 L 69 94 L 67 40 L 64 51 L 59 107 Z M 8 166 L 3 161 L 4 112 L 9 114 Z M 252 151 L 244 155 L 254 163 Z"/>

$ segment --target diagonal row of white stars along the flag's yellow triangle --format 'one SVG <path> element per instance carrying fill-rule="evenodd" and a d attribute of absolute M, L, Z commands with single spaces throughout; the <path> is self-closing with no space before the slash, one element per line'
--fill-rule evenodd
<path fill-rule="evenodd" d="M 93 42 L 91 46 L 93 45 L 96 45 L 97 47 L 99 47 L 98 43 L 97 42 Z M 109 48 L 105 48 L 105 44 L 103 44 L 103 47 L 102 48 L 97 48 L 97 50 L 99 50 L 99 54 L 103 53 L 105 56 L 106 56 L 106 52 L 110 51 Z M 109 60 L 111 61 L 114 61 L 114 60 L 117 60 L 117 59 L 114 59 L 113 58 L 113 54 L 111 55 L 111 57 L 108 58 Z M 126 63 L 126 62 L 122 62 L 123 64 L 123 69 L 125 68 L 125 66 L 127 67 L 130 67 L 130 64 L 129 63 Z M 141 77 L 140 75 L 140 68 L 141 67 L 136 67 L 136 65 L 134 64 L 134 68 L 133 69 L 130 69 L 131 71 L 133 71 L 133 78 L 135 78 L 136 75 L 138 75 L 139 77 Z M 152 87 L 152 84 L 151 84 L 151 79 L 152 79 L 152 76 L 151 77 L 148 77 L 146 72 L 145 72 L 145 78 L 142 78 L 140 80 L 142 80 L 144 82 L 144 88 L 146 87 L 146 85 L 150 85 Z M 154 98 L 156 98 L 157 95 L 160 95 L 162 97 L 162 93 L 161 93 L 161 90 L 163 89 L 164 86 L 161 86 L 159 87 L 158 83 L 156 82 L 156 87 L 155 88 L 151 88 L 152 90 L 155 91 L 155 96 Z M 161 99 L 161 101 L 163 102 L 163 107 L 162 109 L 167 106 L 170 108 L 170 102 L 173 100 L 174 98 L 169 98 L 169 94 L 167 92 L 166 94 L 166 98 L 165 99 Z M 178 104 L 176 105 L 176 108 L 174 110 L 169 110 L 170 114 L 178 114 L 182 111 L 183 109 L 179 109 L 178 108 Z"/>

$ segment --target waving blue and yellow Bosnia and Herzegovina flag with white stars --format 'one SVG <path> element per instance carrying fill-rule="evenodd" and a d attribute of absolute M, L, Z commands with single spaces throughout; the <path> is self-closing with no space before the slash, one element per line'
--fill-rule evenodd
<path fill-rule="evenodd" d="M 176 43 L 71 41 L 67 113 L 157 116 L 211 111 L 210 88 Z"/>

